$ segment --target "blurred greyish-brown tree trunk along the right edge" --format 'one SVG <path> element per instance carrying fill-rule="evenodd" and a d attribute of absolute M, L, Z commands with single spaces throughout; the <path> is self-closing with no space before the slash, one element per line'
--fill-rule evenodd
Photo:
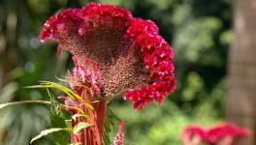
<path fill-rule="evenodd" d="M 229 57 L 226 117 L 252 132 L 235 144 L 255 145 L 256 131 L 256 0 L 238 0 L 235 38 Z"/>

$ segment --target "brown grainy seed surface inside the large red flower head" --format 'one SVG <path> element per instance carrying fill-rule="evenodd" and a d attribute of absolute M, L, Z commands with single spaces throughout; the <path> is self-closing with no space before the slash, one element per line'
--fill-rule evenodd
<path fill-rule="evenodd" d="M 80 64 L 85 58 L 98 62 L 104 97 L 148 83 L 149 71 L 144 67 L 143 52 L 131 39 L 124 37 L 123 29 L 97 26 L 80 35 L 73 25 L 76 24 L 66 25 L 65 28 L 70 29 L 60 31 L 58 41 L 61 47 L 78 56 Z"/>

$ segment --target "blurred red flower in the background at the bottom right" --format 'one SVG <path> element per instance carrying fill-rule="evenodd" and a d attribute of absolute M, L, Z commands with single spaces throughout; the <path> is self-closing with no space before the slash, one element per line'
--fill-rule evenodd
<path fill-rule="evenodd" d="M 250 132 L 231 123 L 213 125 L 208 129 L 199 125 L 188 125 L 181 132 L 180 138 L 183 143 L 189 144 L 195 136 L 200 137 L 202 141 L 209 145 L 217 145 L 223 141 L 225 141 L 225 145 L 231 145 L 234 139 L 239 136 L 249 137 Z"/>

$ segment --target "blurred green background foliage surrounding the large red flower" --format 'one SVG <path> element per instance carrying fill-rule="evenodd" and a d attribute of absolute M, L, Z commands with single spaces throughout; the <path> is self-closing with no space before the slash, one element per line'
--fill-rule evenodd
<path fill-rule="evenodd" d="M 45 90 L 24 89 L 38 80 L 57 81 L 72 66 L 70 55 L 56 58 L 56 44 L 40 43 L 52 14 L 80 8 L 89 0 L 0 1 L 0 102 L 48 100 Z M 116 98 L 110 107 L 127 121 L 125 142 L 138 145 L 180 144 L 186 124 L 209 125 L 224 117 L 226 64 L 232 31 L 232 0 L 98 0 L 152 19 L 175 50 L 176 93 L 162 104 L 135 110 Z M 26 145 L 50 127 L 48 107 L 23 105 L 0 111 L 0 145 Z M 52 144 L 47 137 L 34 144 Z"/>

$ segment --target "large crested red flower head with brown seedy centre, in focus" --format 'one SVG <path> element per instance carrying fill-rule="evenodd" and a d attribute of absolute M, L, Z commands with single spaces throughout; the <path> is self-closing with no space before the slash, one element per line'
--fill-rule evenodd
<path fill-rule="evenodd" d="M 154 22 L 133 17 L 128 10 L 89 3 L 61 11 L 45 23 L 41 41 L 47 39 L 80 62 L 88 58 L 98 64 L 102 97 L 128 89 L 124 99 L 143 108 L 151 101 L 162 102 L 176 89 L 172 47 L 158 35 Z M 93 71 L 92 64 L 88 68 Z"/>

